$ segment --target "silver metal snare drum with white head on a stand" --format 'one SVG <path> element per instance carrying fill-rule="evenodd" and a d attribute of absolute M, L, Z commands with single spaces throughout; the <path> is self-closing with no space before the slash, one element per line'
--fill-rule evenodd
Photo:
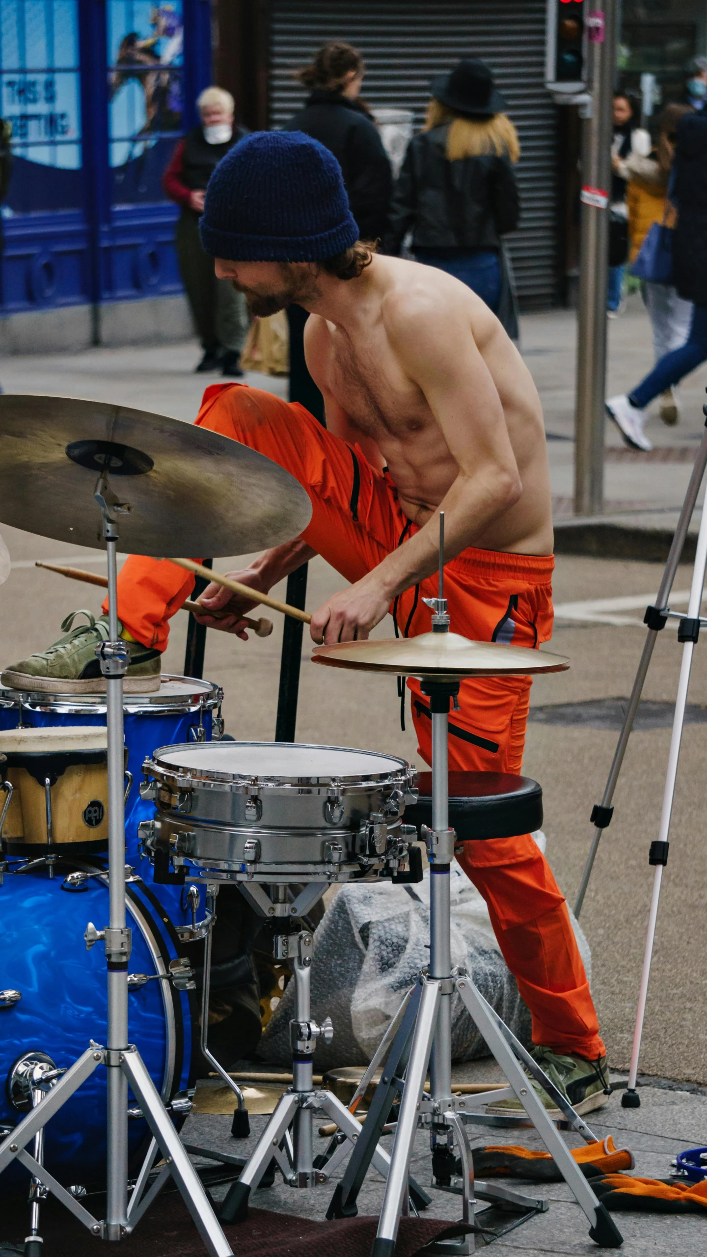
<path fill-rule="evenodd" d="M 194 861 L 234 881 L 350 881 L 406 855 L 405 759 L 347 747 L 225 742 L 161 747 L 141 794 L 157 820 L 141 832 L 157 865 Z"/>

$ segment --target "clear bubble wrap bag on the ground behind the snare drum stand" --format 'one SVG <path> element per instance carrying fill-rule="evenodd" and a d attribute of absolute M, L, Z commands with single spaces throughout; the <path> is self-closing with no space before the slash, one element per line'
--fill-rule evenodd
<path fill-rule="evenodd" d="M 545 836 L 536 841 L 543 845 Z M 452 865 L 452 964 L 473 974 L 482 996 L 522 1043 L 530 1046 L 530 1013 L 518 994 L 496 941 L 487 906 L 458 864 Z M 589 947 L 572 920 L 589 977 Z M 317 1073 L 347 1065 L 367 1065 L 403 996 L 429 963 L 429 871 L 414 886 L 360 882 L 342 886 L 315 934 L 312 1017 L 330 1016 L 333 1041 L 321 1040 Z M 258 1055 L 289 1065 L 289 1019 L 294 1016 L 294 982 L 289 982 L 260 1040 Z M 488 1048 L 459 996 L 452 1001 L 452 1058 L 472 1061 Z"/>

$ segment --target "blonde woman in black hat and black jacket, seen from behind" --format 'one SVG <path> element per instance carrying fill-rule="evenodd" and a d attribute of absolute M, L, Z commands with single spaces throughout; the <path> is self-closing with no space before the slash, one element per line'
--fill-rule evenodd
<path fill-rule="evenodd" d="M 408 231 L 418 261 L 460 279 L 517 338 L 502 236 L 518 224 L 516 128 L 483 62 L 462 60 L 431 83 L 425 126 L 408 146 L 390 215 L 387 253 Z"/>

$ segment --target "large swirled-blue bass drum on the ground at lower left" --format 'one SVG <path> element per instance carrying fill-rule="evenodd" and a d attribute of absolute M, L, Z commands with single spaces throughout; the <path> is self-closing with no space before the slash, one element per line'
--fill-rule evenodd
<path fill-rule="evenodd" d="M 19 869 L 10 861 L 10 870 Z M 79 870 L 78 889 L 65 875 Z M 82 880 L 82 875 L 87 875 Z M 75 874 L 72 879 L 77 886 Z M 128 1041 L 135 1043 L 175 1119 L 190 1109 L 194 991 L 177 989 L 170 962 L 181 954 L 166 913 L 141 879 L 126 884 L 132 929 L 128 978 Z M 108 890 L 96 865 L 62 860 L 47 871 L 5 872 L 0 886 L 0 1133 L 23 1114 L 9 1100 L 8 1079 L 20 1056 L 40 1051 L 57 1067 L 73 1063 L 93 1038 L 106 1042 L 106 955 L 97 943 L 87 952 L 88 921 L 108 920 Z M 161 977 L 165 980 L 161 980 Z M 147 978 L 148 980 L 143 980 Z M 19 998 L 18 998 L 19 997 Z M 128 1148 L 137 1163 L 148 1128 L 135 1100 Z M 98 1067 L 45 1128 L 44 1164 L 64 1185 L 98 1184 L 106 1172 L 106 1070 Z M 131 1170 L 132 1173 L 132 1170 Z M 14 1163 L 0 1175 L 0 1197 L 26 1192 L 28 1172 Z"/>

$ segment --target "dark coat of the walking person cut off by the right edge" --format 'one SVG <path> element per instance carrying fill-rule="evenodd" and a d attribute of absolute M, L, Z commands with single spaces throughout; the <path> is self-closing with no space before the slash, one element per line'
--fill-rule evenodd
<path fill-rule="evenodd" d="M 687 113 L 678 122 L 674 185 L 678 210 L 673 236 L 674 284 L 681 297 L 707 305 L 707 116 Z"/>

